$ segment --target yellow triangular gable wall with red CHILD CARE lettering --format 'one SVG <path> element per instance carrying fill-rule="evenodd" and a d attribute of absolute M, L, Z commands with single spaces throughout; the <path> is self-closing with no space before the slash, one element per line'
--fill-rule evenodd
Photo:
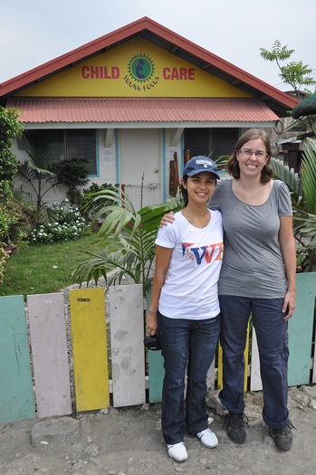
<path fill-rule="evenodd" d="M 142 38 L 60 72 L 17 94 L 48 97 L 249 97 Z"/>

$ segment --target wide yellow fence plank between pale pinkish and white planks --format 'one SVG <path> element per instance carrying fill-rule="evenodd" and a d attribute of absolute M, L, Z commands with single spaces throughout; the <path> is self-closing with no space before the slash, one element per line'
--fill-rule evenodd
<path fill-rule="evenodd" d="M 110 405 L 104 289 L 69 292 L 76 410 Z"/>

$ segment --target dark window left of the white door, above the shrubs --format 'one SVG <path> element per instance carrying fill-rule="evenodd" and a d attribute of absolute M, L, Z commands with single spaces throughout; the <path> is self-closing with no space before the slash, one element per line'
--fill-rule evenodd
<path fill-rule="evenodd" d="M 91 128 L 33 130 L 36 143 L 48 145 L 53 163 L 70 158 L 85 158 L 89 175 L 97 175 L 96 137 Z"/>

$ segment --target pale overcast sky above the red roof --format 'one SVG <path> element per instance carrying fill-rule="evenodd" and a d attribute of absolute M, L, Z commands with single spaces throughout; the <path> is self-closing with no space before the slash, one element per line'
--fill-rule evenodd
<path fill-rule="evenodd" d="M 295 50 L 316 78 L 315 0 L 0 0 L 0 83 L 148 16 L 262 81 L 288 90 L 260 48 Z"/>

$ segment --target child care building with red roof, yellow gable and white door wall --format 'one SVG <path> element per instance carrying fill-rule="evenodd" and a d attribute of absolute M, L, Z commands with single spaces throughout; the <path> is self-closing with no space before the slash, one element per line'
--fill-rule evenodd
<path fill-rule="evenodd" d="M 0 86 L 52 160 L 88 160 L 91 183 L 119 183 L 136 208 L 173 194 L 175 166 L 232 153 L 246 128 L 272 130 L 297 100 L 147 17 Z M 23 163 L 24 147 L 14 153 Z M 47 194 L 48 202 L 64 197 Z"/>

